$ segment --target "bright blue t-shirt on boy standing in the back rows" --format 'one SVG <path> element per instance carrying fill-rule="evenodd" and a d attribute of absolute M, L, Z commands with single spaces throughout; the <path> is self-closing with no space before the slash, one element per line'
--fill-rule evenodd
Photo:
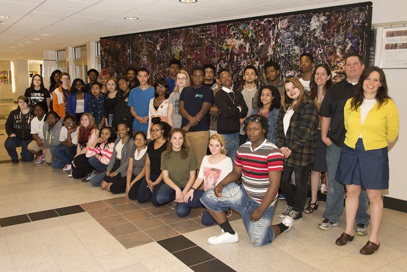
<path fill-rule="evenodd" d="M 127 105 L 134 108 L 137 116 L 149 116 L 150 100 L 154 97 L 154 92 L 154 88 L 151 86 L 144 91 L 141 90 L 140 87 L 136 87 L 130 91 Z M 147 124 L 141 124 L 134 118 L 133 129 L 147 131 L 147 129 L 149 129 L 149 122 L 147 122 Z"/>

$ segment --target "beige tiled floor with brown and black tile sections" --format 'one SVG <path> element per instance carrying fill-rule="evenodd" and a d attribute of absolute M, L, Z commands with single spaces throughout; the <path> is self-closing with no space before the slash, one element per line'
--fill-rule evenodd
<path fill-rule="evenodd" d="M 0 142 L 3 148 L 1 135 Z M 0 160 L 7 159 L 4 152 L 0 149 Z M 3 163 L 0 177 L 1 271 L 405 271 L 407 266 L 407 215 L 394 210 L 384 211 L 381 247 L 372 256 L 359 254 L 367 237 L 335 245 L 344 215 L 337 228 L 317 228 L 325 203 L 263 247 L 252 246 L 234 212 L 231 225 L 239 242 L 212 246 L 207 238 L 220 228 L 201 225 L 200 209 L 180 218 L 170 205 L 112 195 L 45 162 Z M 277 203 L 276 214 L 284 205 Z M 279 222 L 276 215 L 274 223 Z"/>

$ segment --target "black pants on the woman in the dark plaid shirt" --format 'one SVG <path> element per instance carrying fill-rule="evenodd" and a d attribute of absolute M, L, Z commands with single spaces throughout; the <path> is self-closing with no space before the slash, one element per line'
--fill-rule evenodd
<path fill-rule="evenodd" d="M 307 202 L 308 187 L 307 176 L 310 166 L 290 167 L 284 163 L 284 170 L 281 175 L 281 191 L 283 191 L 285 201 L 288 206 L 293 207 L 294 210 L 303 212 L 305 203 Z M 296 177 L 296 191 L 294 192 L 293 185 L 289 182 L 291 175 Z"/>

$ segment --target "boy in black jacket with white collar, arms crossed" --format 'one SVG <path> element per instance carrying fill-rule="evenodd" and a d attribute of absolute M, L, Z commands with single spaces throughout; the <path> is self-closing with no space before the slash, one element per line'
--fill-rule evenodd
<path fill-rule="evenodd" d="M 235 164 L 239 148 L 240 118 L 246 117 L 248 108 L 242 93 L 232 90 L 229 70 L 221 69 L 218 78 L 222 89 L 215 95 L 215 104 L 220 110 L 217 131 L 225 138 L 227 156 Z"/>

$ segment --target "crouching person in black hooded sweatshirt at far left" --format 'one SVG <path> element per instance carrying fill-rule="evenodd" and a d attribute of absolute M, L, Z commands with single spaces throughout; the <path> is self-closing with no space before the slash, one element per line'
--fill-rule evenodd
<path fill-rule="evenodd" d="M 6 133 L 9 137 L 4 142 L 4 147 L 13 164 L 18 162 L 16 148 L 20 146 L 23 161 L 30 161 L 34 158 L 34 155 L 27 150 L 28 144 L 33 140 L 31 136 L 31 120 L 34 118 L 33 108 L 28 105 L 28 98 L 24 95 L 19 96 L 17 101 L 18 107 L 11 111 L 6 121 Z"/>

